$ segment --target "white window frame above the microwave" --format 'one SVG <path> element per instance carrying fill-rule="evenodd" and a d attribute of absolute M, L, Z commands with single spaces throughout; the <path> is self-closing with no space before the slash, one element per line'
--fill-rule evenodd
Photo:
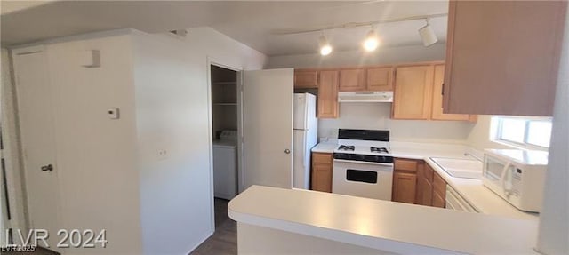
<path fill-rule="evenodd" d="M 504 119 L 517 119 L 525 121 L 525 128 L 524 128 L 524 142 L 517 142 L 514 140 L 509 139 L 502 139 L 502 121 Z M 493 126 L 494 130 L 492 135 L 492 140 L 497 143 L 501 143 L 510 147 L 518 147 L 522 149 L 534 149 L 534 150 L 549 150 L 549 147 L 541 147 L 539 145 L 534 145 L 528 143 L 528 133 L 529 133 L 529 125 L 532 122 L 551 122 L 552 118 L 550 117 L 532 117 L 532 116 L 493 116 Z"/>

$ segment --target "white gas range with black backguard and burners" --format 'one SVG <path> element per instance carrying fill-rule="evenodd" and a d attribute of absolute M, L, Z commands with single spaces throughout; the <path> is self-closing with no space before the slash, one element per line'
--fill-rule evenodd
<path fill-rule="evenodd" d="M 332 193 L 391 200 L 389 131 L 340 129 L 333 158 Z"/>

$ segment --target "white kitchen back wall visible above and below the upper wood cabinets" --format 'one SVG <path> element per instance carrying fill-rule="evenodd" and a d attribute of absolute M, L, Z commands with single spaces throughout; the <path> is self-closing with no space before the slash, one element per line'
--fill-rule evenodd
<path fill-rule="evenodd" d="M 332 52 L 272 56 L 268 68 L 339 68 L 381 64 L 411 63 L 445 59 L 445 44 L 379 48 L 377 52 Z M 464 142 L 474 124 L 447 121 L 392 120 L 389 103 L 341 103 L 340 117 L 320 119 L 318 137 L 336 138 L 339 128 L 389 129 L 394 140 Z"/>

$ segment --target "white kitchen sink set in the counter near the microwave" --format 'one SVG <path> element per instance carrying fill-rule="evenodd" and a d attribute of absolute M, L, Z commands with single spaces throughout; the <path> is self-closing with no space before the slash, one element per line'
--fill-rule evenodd
<path fill-rule="evenodd" d="M 456 178 L 482 179 L 482 162 L 471 159 L 431 157 L 444 171 Z"/>

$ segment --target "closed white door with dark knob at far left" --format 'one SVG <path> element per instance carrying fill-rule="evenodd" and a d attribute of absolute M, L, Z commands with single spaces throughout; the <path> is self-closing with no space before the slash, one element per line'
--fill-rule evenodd
<path fill-rule="evenodd" d="M 19 105 L 21 145 L 28 196 L 29 228 L 49 231 L 51 249 L 61 227 L 59 188 L 55 162 L 52 89 L 43 48 L 16 50 L 13 54 Z M 51 165 L 51 167 L 49 167 Z M 27 235 L 28 233 L 23 233 Z M 18 236 L 14 233 L 14 236 Z M 37 243 L 44 246 L 42 242 Z"/>

